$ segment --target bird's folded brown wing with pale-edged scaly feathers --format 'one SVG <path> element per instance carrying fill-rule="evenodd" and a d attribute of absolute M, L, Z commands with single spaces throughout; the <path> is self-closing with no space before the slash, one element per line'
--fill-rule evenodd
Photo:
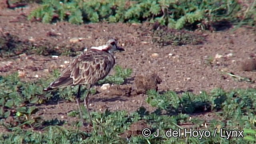
<path fill-rule="evenodd" d="M 64 88 L 78 84 L 94 84 L 103 79 L 115 64 L 114 56 L 105 53 L 84 53 L 62 71 L 49 88 Z"/>

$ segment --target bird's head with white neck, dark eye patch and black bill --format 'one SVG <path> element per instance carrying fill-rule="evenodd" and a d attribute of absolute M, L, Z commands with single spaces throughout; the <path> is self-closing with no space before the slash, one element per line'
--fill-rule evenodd
<path fill-rule="evenodd" d="M 108 42 L 106 42 L 105 45 L 98 46 L 98 47 L 91 47 L 90 49 L 100 50 L 100 51 L 108 52 L 108 53 L 111 53 L 111 54 L 116 50 L 124 51 L 124 48 L 121 48 L 121 47 L 117 46 L 117 40 L 116 39 L 110 39 L 110 40 L 108 40 Z"/>

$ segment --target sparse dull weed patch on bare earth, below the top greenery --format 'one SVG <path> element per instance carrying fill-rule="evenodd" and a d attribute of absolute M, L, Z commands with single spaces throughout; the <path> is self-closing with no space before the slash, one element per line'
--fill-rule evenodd
<path fill-rule="evenodd" d="M 198 32 L 189 32 L 188 30 L 175 30 L 167 26 L 160 26 L 158 22 L 152 26 L 152 42 L 167 45 L 185 45 L 185 44 L 202 44 L 205 36 Z"/>

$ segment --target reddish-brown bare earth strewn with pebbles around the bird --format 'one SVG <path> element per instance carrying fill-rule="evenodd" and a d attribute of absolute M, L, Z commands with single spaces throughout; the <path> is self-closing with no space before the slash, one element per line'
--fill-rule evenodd
<path fill-rule="evenodd" d="M 0 34 L 8 33 L 18 36 L 21 41 L 29 40 L 35 45 L 54 46 L 56 49 L 60 46 L 70 49 L 70 46 L 76 45 L 80 50 L 93 46 L 94 40 L 100 36 L 116 36 L 119 44 L 126 49 L 125 52 L 115 54 L 116 64 L 133 69 L 130 82 L 111 86 L 107 90 L 101 90 L 100 86 L 96 86 L 99 93 L 90 96 L 89 102 L 92 111 L 104 112 L 108 108 L 111 111 L 132 112 L 141 106 L 153 111 L 155 108 L 145 102 L 145 90 L 155 86 L 159 91 L 190 90 L 196 94 L 201 90 L 209 92 L 218 87 L 224 90 L 256 87 L 256 84 L 238 82 L 222 73 L 232 72 L 238 76 L 255 79 L 255 72 L 245 71 L 252 68 L 244 65 L 244 63 L 250 65 L 250 62 L 244 60 L 254 59 L 252 54 L 256 53 L 255 28 L 238 28 L 234 32 L 231 30 L 206 31 L 204 44 L 161 47 L 152 43 L 149 37 L 144 36 L 145 31 L 142 31 L 142 28 L 145 29 L 145 25 L 121 23 L 72 25 L 68 22 L 56 24 L 29 22 L 26 16 L 31 8 L 33 7 L 28 6 L 22 12 L 18 9 L 1 10 Z M 73 44 L 70 42 L 71 38 L 80 39 Z M 22 80 L 36 81 L 38 78 L 48 78 L 54 68 L 62 70 L 72 58 L 67 56 L 53 58 L 37 54 L 0 58 L 0 75 L 22 71 L 24 72 Z M 143 80 L 143 76 L 149 77 L 153 73 L 159 78 Z M 158 82 L 159 80 L 162 82 Z M 68 122 L 79 120 L 79 118 L 67 116 L 68 112 L 77 109 L 76 102 L 59 102 L 41 105 L 39 108 L 38 114 L 46 120 L 54 118 Z M 204 116 L 200 114 L 202 118 L 208 119 L 205 115 L 207 113 Z M 214 116 L 210 117 L 214 118 Z M 135 134 L 130 133 L 127 135 Z"/>

